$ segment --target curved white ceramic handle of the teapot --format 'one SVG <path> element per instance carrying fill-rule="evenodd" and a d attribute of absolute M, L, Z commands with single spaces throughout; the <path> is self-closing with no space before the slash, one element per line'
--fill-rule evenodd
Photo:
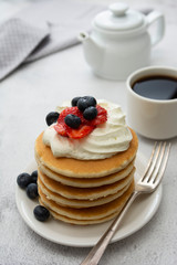
<path fill-rule="evenodd" d="M 157 22 L 156 32 L 152 33 L 152 46 L 156 45 L 164 36 L 165 33 L 165 18 L 164 14 L 158 11 L 153 11 L 147 15 L 147 25 L 152 25 Z"/>

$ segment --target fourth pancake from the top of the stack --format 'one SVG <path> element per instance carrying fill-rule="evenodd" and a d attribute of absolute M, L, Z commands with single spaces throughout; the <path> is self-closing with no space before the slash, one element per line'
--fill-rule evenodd
<path fill-rule="evenodd" d="M 38 178 L 38 187 L 40 188 L 41 192 L 49 199 L 62 206 L 70 206 L 70 208 L 91 208 L 105 204 L 111 202 L 118 197 L 121 197 L 129 187 L 131 182 L 127 183 L 122 190 L 117 191 L 115 194 L 111 194 L 107 197 L 102 197 L 97 200 L 76 200 L 76 199 L 67 199 L 65 197 L 60 195 L 59 193 L 52 192 L 49 190 L 44 183 Z"/>

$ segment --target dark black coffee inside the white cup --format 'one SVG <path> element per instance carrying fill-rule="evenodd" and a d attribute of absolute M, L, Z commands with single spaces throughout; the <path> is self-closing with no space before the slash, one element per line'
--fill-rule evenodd
<path fill-rule="evenodd" d="M 170 76 L 147 76 L 133 84 L 133 91 L 138 95 L 153 99 L 177 98 L 177 78 Z"/>

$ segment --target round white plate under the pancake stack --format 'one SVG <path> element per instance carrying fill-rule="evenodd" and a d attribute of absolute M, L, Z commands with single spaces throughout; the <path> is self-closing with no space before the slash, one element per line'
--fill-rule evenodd
<path fill-rule="evenodd" d="M 140 174 L 146 165 L 145 158 L 140 153 L 136 158 L 136 171 Z M 37 169 L 35 161 L 31 162 L 25 169 L 25 172 L 31 173 Z M 137 176 L 136 174 L 136 176 Z M 128 213 L 124 218 L 122 225 L 114 235 L 112 243 L 125 239 L 142 229 L 155 214 L 162 199 L 162 184 L 152 194 L 142 195 L 132 204 Z M 15 201 L 21 216 L 24 222 L 39 235 L 52 242 L 69 245 L 69 246 L 93 246 L 105 230 L 111 224 L 111 221 L 103 224 L 94 225 L 72 225 L 61 221 L 55 221 L 50 218 L 46 222 L 39 222 L 33 215 L 33 209 L 38 205 L 38 201 L 30 200 L 25 191 L 17 186 Z"/>

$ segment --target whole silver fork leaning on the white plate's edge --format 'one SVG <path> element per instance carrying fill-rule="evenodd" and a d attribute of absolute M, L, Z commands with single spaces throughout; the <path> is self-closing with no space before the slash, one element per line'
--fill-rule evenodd
<path fill-rule="evenodd" d="M 143 177 L 135 184 L 135 190 L 123 208 L 122 212 L 116 216 L 113 223 L 110 225 L 107 231 L 100 239 L 97 244 L 91 250 L 86 258 L 81 263 L 81 265 L 96 265 L 98 264 L 102 255 L 104 254 L 108 243 L 114 236 L 118 229 L 124 215 L 132 205 L 133 201 L 143 193 L 152 193 L 159 186 L 169 157 L 170 142 L 166 141 L 155 142 L 150 159 L 147 163 L 146 170 Z"/>

